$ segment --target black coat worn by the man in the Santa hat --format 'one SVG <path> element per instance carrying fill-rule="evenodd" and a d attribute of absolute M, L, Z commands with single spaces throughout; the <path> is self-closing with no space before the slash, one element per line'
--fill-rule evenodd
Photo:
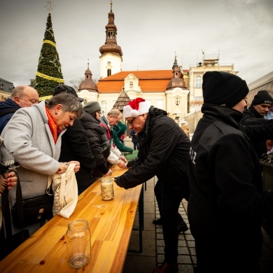
<path fill-rule="evenodd" d="M 134 165 L 125 174 L 116 179 L 118 186 L 134 188 L 158 176 L 175 194 L 183 191 L 188 199 L 187 159 L 190 139 L 167 116 L 167 112 L 151 106 L 143 132 L 138 134 L 139 153 Z"/>

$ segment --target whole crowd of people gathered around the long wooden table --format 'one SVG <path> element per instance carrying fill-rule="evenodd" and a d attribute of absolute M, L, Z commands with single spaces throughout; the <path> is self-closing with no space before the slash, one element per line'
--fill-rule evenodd
<path fill-rule="evenodd" d="M 190 139 L 186 122 L 179 126 L 142 98 L 102 116 L 98 102 L 83 106 L 68 85 L 58 85 L 39 103 L 34 88 L 15 87 L 0 103 L 0 130 L 1 143 L 20 167 L 1 174 L 0 192 L 7 188 L 14 205 L 18 175 L 23 199 L 43 195 L 48 176 L 72 163 L 78 195 L 111 176 L 112 165 L 127 169 L 115 178 L 125 189 L 157 176 L 160 218 L 153 223 L 162 225 L 165 259 L 153 273 L 179 272 L 178 234 L 188 230 L 178 212 L 183 199 L 195 239 L 195 273 L 260 272 L 261 223 L 273 213 L 273 193 L 262 190 L 259 160 L 273 139 L 273 99 L 260 90 L 247 109 L 246 82 L 221 71 L 204 73 L 202 89 L 203 116 Z M 127 128 L 134 149 L 125 146 Z M 137 158 L 127 162 L 124 153 L 133 151 Z M 43 224 L 27 227 L 30 235 Z M 15 225 L 12 230 L 18 232 Z"/>

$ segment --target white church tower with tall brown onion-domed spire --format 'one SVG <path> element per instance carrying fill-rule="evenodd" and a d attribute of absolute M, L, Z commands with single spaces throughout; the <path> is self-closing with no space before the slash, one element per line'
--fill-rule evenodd
<path fill-rule="evenodd" d="M 116 74 L 121 69 L 121 64 L 123 62 L 123 51 L 120 46 L 117 45 L 117 27 L 115 25 L 115 15 L 112 12 L 112 1 L 110 13 L 108 13 L 108 25 L 106 25 L 106 42 L 99 48 L 99 52 L 101 52 L 100 59 L 100 68 L 101 78 L 106 78 L 107 76 L 111 76 Z"/>

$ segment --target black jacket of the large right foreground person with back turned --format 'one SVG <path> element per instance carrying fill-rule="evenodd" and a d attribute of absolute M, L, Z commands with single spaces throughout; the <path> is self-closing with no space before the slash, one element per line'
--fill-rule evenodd
<path fill-rule="evenodd" d="M 188 219 L 196 240 L 217 249 L 258 258 L 262 217 L 273 211 L 272 193 L 262 192 L 260 162 L 241 132 L 242 113 L 203 105 L 188 160 Z"/>

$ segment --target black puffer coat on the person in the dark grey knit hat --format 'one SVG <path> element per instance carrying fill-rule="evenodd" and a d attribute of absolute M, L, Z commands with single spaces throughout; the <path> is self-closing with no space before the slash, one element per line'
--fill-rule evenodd
<path fill-rule="evenodd" d="M 106 130 L 99 125 L 99 120 L 93 118 L 90 113 L 83 111 L 83 118 L 80 119 L 85 129 L 85 135 L 89 141 L 92 153 L 96 160 L 96 168 L 94 169 L 93 176 L 102 176 L 109 172 L 107 167 L 107 158 L 110 155 L 111 145 L 107 139 Z M 109 148 L 102 152 L 102 144 L 106 141 L 109 142 Z"/>

